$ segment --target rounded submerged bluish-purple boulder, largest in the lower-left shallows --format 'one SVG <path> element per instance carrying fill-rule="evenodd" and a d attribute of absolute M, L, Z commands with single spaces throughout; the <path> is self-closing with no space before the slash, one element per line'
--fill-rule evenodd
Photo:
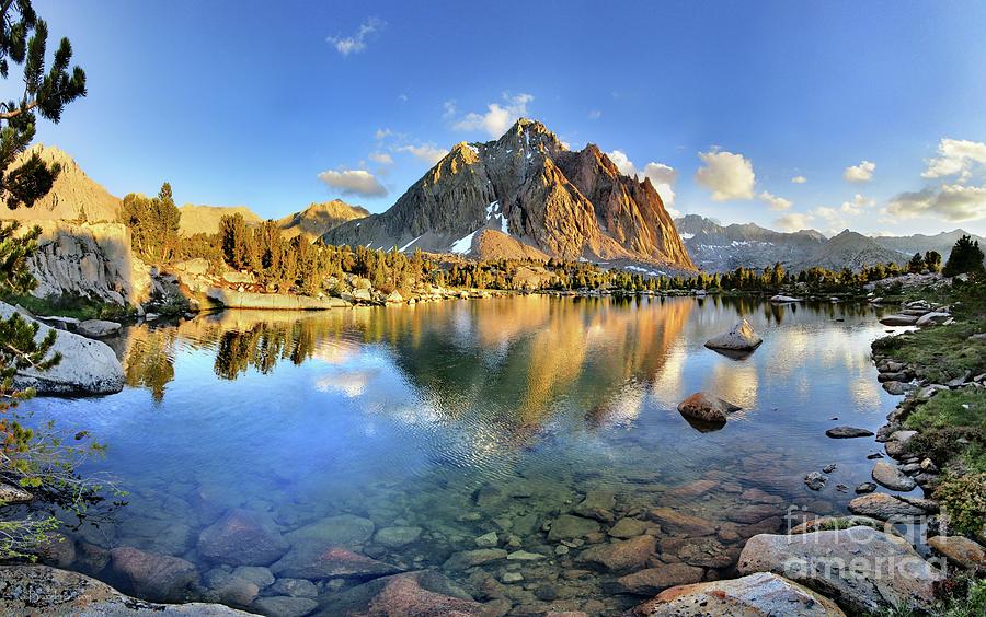
<path fill-rule="evenodd" d="M 250 510 L 232 510 L 198 535 L 198 552 L 230 566 L 270 566 L 288 550 L 274 522 Z"/>

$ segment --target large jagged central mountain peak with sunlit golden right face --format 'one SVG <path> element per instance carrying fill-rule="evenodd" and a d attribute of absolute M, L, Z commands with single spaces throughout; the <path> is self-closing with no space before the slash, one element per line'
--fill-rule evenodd
<path fill-rule="evenodd" d="M 478 257 L 484 245 L 523 257 L 524 245 L 549 257 L 693 269 L 649 179 L 621 175 L 595 145 L 572 152 L 527 119 L 496 141 L 457 144 L 387 212 L 324 237 Z"/>

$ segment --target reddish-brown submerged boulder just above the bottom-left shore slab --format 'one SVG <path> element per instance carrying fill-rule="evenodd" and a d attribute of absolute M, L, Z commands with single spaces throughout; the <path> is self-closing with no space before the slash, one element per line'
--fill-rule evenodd
<path fill-rule="evenodd" d="M 129 546 L 110 551 L 110 569 L 126 591 L 153 602 L 181 602 L 198 582 L 191 562 Z"/>

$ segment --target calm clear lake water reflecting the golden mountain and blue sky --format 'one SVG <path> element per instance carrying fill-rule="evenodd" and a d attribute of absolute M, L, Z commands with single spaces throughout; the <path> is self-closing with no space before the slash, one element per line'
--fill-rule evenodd
<path fill-rule="evenodd" d="M 740 315 L 763 336 L 759 349 L 737 360 L 702 347 Z M 205 573 L 222 563 L 200 555 L 199 533 L 230 509 L 261 512 L 282 533 L 352 514 L 376 531 L 421 528 L 397 548 L 365 534 L 349 542 L 354 550 L 442 569 L 494 531 L 501 546 L 509 539 L 505 548 L 547 558 L 445 573 L 517 614 L 603 613 L 640 602 L 605 589 L 621 572 L 578 561 L 611 523 L 566 555 L 555 555 L 547 525 L 587 491 L 612 492 L 614 519 L 656 521 L 646 512 L 670 507 L 711 521 L 719 531 L 707 548 L 735 558 L 744 534 L 780 520 L 730 521 L 730 512 L 753 503 L 842 511 L 852 491 L 836 485 L 869 479 L 865 455 L 879 449 L 824 431 L 875 430 L 893 406 L 869 359 L 882 331 L 865 306 L 690 298 L 229 311 L 128 328 L 111 341 L 127 370 L 124 392 L 30 408 L 37 421 L 107 444 L 89 470 L 129 492 L 128 505 L 80 529 L 80 542 L 183 557 Z M 697 391 L 744 409 L 721 430 L 699 431 L 676 411 Z M 829 463 L 838 468 L 825 489 L 807 490 L 804 475 Z M 687 534 L 663 527 L 651 531 L 661 540 L 651 563 L 689 561 L 668 542 Z M 574 569 L 588 572 L 566 578 Z M 485 575 L 506 571 L 525 582 Z M 358 584 L 318 582 L 323 605 Z"/>

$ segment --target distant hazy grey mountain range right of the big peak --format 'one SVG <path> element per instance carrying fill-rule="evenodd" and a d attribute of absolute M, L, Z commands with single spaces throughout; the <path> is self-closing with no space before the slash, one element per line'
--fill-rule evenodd
<path fill-rule="evenodd" d="M 986 238 L 963 230 L 936 235 L 865 236 L 846 230 L 826 237 L 815 230 L 784 233 L 753 223 L 721 225 L 715 221 L 688 214 L 675 220 L 678 233 L 696 266 L 710 272 L 733 270 L 740 266 L 766 268 L 780 263 L 788 270 L 812 266 L 860 269 L 864 266 L 905 263 L 915 253 L 937 251 L 947 259 L 961 235 L 972 235 L 986 245 Z"/>

